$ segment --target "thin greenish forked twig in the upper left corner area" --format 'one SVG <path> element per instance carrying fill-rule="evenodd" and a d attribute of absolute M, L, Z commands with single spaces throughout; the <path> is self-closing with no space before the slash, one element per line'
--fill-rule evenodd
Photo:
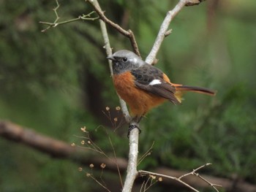
<path fill-rule="evenodd" d="M 47 31 L 49 28 L 56 27 L 56 26 L 66 24 L 66 23 L 71 23 L 71 22 L 74 22 L 74 21 L 77 21 L 77 20 L 97 20 L 97 19 L 99 19 L 99 17 L 91 18 L 91 15 L 94 14 L 94 11 L 93 11 L 93 12 L 90 12 L 89 14 L 87 14 L 87 15 L 80 15 L 80 16 L 78 16 L 78 18 L 58 22 L 59 19 L 60 19 L 59 14 L 57 12 L 57 10 L 60 7 L 60 4 L 59 4 L 58 0 L 56 0 L 56 4 L 57 4 L 57 6 L 55 8 L 53 8 L 53 11 L 56 15 L 56 19 L 54 20 L 54 22 L 50 23 L 50 22 L 45 22 L 45 21 L 39 21 L 39 23 L 45 24 L 45 25 L 48 26 L 47 28 L 43 29 L 42 32 Z"/>

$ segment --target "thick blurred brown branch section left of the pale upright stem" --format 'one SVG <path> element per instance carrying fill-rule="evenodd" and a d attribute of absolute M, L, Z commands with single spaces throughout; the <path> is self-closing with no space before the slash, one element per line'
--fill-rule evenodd
<path fill-rule="evenodd" d="M 0 137 L 13 142 L 19 142 L 54 158 L 67 158 L 79 164 L 87 165 L 91 164 L 91 162 L 102 164 L 104 162 L 108 164 L 108 168 L 113 170 L 116 170 L 116 164 L 121 166 L 122 170 L 127 166 L 127 161 L 124 158 L 97 158 L 97 155 L 93 155 L 95 153 L 85 150 L 85 147 L 72 146 L 10 121 L 0 120 Z M 117 163 L 115 164 L 114 162 Z"/>

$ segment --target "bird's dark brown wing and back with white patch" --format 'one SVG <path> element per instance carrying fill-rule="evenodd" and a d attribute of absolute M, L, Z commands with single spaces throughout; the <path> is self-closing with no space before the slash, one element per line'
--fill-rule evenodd
<path fill-rule="evenodd" d="M 179 104 L 174 93 L 176 89 L 169 82 L 163 80 L 163 73 L 154 66 L 145 64 L 138 69 L 132 69 L 132 75 L 135 77 L 135 85 L 156 96 L 170 100 L 173 104 Z"/>

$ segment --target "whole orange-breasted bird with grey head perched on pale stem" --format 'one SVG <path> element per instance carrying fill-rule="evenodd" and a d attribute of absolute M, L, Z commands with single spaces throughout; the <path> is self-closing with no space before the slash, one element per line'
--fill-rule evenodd
<path fill-rule="evenodd" d="M 184 91 L 210 96 L 216 93 L 208 88 L 170 82 L 160 69 L 147 64 L 129 50 L 118 50 L 108 59 L 113 61 L 113 84 L 116 91 L 129 105 L 132 118 L 137 123 L 151 108 L 167 100 L 173 104 L 180 104 Z"/>

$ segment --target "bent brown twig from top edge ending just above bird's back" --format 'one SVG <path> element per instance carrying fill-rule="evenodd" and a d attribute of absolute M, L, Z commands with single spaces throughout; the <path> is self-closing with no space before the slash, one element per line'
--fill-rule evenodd
<path fill-rule="evenodd" d="M 119 31 L 121 34 L 123 34 L 125 37 L 129 38 L 129 41 L 131 42 L 132 45 L 132 49 L 133 51 L 140 56 L 140 51 L 139 51 L 139 47 L 138 44 L 136 42 L 135 39 L 135 35 L 133 34 L 132 30 L 128 29 L 128 30 L 124 30 L 124 28 L 121 28 L 121 26 L 119 26 L 116 23 L 113 23 L 112 20 L 109 20 L 105 15 L 104 12 L 102 11 L 102 9 L 100 9 L 98 2 L 95 3 L 94 0 L 85 0 L 87 2 L 89 2 L 89 4 L 92 5 L 92 7 L 94 7 L 94 10 L 97 12 L 97 14 L 99 15 L 99 18 L 101 20 L 103 20 L 105 23 L 108 23 L 110 26 L 112 26 L 113 28 L 115 28 L 117 31 Z"/>

